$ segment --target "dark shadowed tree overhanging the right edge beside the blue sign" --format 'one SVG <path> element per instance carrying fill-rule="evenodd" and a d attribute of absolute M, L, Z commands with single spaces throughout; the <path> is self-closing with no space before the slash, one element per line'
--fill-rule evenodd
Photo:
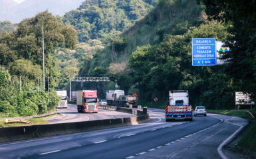
<path fill-rule="evenodd" d="M 208 19 L 230 25 L 234 37 L 226 42 L 231 48 L 223 58 L 228 59 L 225 71 L 241 91 L 256 93 L 256 2 L 198 0 L 205 4 Z M 233 43 L 235 41 L 235 43 Z"/>

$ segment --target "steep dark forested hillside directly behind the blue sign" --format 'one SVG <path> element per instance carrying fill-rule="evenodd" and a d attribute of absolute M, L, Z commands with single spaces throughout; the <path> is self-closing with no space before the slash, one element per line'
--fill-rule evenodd
<path fill-rule="evenodd" d="M 110 76 L 126 93 L 140 89 L 140 101 L 158 97 L 157 105 L 165 104 L 169 90 L 187 89 L 193 105 L 233 107 L 236 86 L 223 73 L 223 66 L 192 66 L 192 38 L 232 37 L 227 26 L 207 21 L 203 9 L 191 0 L 159 1 L 148 15 L 86 62 L 79 76 Z"/>

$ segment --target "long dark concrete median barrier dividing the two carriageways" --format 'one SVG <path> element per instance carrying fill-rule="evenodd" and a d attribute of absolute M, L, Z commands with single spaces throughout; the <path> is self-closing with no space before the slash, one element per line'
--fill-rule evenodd
<path fill-rule="evenodd" d="M 115 108 L 106 108 L 115 109 Z M 72 134 L 86 131 L 96 131 L 100 129 L 109 129 L 114 127 L 124 127 L 129 125 L 137 125 L 149 120 L 149 115 L 139 115 L 138 111 L 132 109 L 119 109 L 123 112 L 137 113 L 136 117 L 105 119 L 98 121 L 82 121 L 75 123 L 59 123 L 49 125 L 31 125 L 24 127 L 4 127 L 0 128 L 0 142 L 12 142 L 17 140 L 27 140 L 31 138 L 42 138 L 49 136 L 57 136 L 63 134 Z"/>

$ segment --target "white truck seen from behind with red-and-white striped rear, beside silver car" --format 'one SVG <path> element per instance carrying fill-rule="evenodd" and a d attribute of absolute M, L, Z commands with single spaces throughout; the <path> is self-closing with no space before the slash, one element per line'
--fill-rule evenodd
<path fill-rule="evenodd" d="M 166 105 L 166 121 L 184 119 L 193 121 L 192 105 L 189 105 L 187 90 L 169 91 L 168 105 Z"/>

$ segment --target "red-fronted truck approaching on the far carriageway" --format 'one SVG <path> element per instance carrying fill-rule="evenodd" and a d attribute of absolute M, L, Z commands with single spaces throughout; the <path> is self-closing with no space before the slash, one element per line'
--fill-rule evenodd
<path fill-rule="evenodd" d="M 76 106 L 78 113 L 98 113 L 97 91 L 76 91 Z"/>

